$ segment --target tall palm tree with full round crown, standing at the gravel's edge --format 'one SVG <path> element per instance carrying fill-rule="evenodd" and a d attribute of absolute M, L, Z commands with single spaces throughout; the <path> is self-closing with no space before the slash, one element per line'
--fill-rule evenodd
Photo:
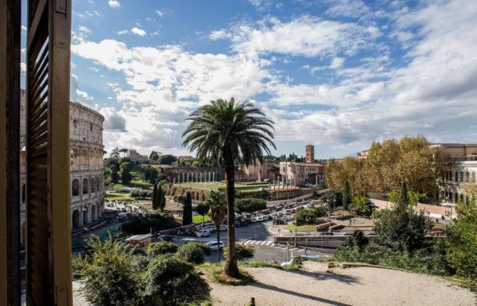
<path fill-rule="evenodd" d="M 227 189 L 227 239 L 229 252 L 224 271 L 229 276 L 238 276 L 235 252 L 234 215 L 234 163 L 250 165 L 263 161 L 263 151 L 270 154 L 273 143 L 273 121 L 252 103 L 235 102 L 234 98 L 215 100 L 189 115 L 191 123 L 182 134 L 184 147 L 196 150 L 200 161 L 210 159 L 225 163 L 225 186 Z"/>

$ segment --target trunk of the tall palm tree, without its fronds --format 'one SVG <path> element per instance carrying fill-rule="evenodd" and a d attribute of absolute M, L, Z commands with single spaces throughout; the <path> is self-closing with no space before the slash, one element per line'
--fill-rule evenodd
<path fill-rule="evenodd" d="M 232 156 L 230 154 L 229 156 Z M 225 162 L 225 188 L 227 190 L 227 243 L 229 251 L 227 252 L 227 261 L 225 262 L 224 272 L 228 276 L 238 276 L 237 258 L 235 253 L 235 178 L 234 161 L 232 158 Z"/>

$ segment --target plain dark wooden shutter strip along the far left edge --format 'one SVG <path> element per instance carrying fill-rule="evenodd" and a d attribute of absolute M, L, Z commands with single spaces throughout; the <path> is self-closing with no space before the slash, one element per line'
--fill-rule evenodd
<path fill-rule="evenodd" d="M 20 0 L 0 0 L 0 305 L 20 304 Z"/>

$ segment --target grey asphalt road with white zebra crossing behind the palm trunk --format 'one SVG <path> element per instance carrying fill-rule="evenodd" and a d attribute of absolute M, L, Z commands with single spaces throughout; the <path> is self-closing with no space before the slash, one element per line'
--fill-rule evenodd
<path fill-rule="evenodd" d="M 250 260 L 252 261 L 266 261 L 272 262 L 272 260 L 277 260 L 278 262 L 286 262 L 288 258 L 293 258 L 298 255 L 304 255 L 308 253 L 309 255 L 318 255 L 320 258 L 329 258 L 333 251 L 331 250 L 321 250 L 321 249 L 309 249 L 306 251 L 306 248 L 303 246 L 287 246 L 281 244 L 273 243 L 274 234 L 268 230 L 272 227 L 272 222 L 257 222 L 249 224 L 248 226 L 241 226 L 236 228 L 236 242 L 245 244 L 246 246 L 252 246 L 255 249 L 254 257 Z M 175 237 L 174 242 L 179 246 L 195 241 L 200 243 L 207 243 L 211 240 L 216 240 L 216 233 L 211 233 L 209 237 Z M 220 240 L 227 245 L 227 232 L 220 232 Z M 289 256 L 289 257 L 288 257 Z M 222 252 L 220 252 L 220 260 L 224 260 Z M 207 262 L 216 262 L 217 261 L 217 252 L 213 251 L 210 256 L 205 258 Z"/>

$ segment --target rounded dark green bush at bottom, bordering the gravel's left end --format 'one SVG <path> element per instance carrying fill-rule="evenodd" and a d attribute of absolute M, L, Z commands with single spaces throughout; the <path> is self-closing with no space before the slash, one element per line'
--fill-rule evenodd
<path fill-rule="evenodd" d="M 147 305 L 200 303 L 210 298 L 210 287 L 194 267 L 174 257 L 150 262 L 145 274 Z"/>

